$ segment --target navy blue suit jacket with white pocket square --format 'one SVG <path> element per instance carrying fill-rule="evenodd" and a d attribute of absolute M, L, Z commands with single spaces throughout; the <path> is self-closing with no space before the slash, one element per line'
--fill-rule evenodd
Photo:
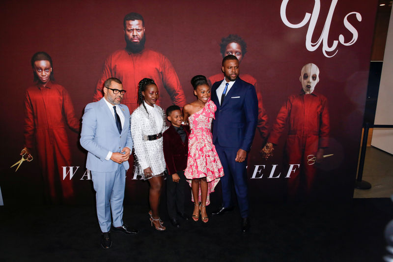
<path fill-rule="evenodd" d="M 255 87 L 237 78 L 225 95 L 224 104 L 220 106 L 216 91 L 221 83 L 214 83 L 211 92 L 211 99 L 217 106 L 216 119 L 213 121 L 213 143 L 250 151 L 258 118 Z"/>

